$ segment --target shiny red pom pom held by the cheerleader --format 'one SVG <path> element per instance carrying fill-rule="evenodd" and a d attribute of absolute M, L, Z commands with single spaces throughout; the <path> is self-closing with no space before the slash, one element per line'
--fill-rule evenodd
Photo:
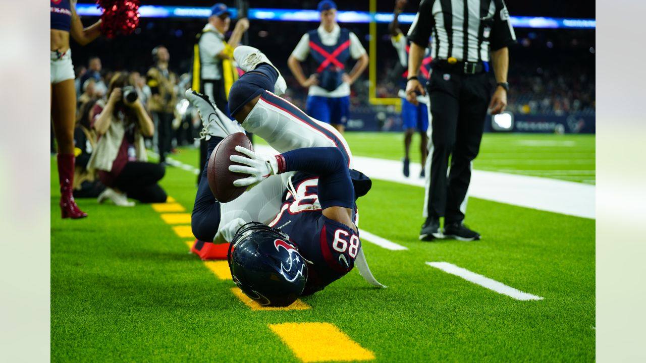
<path fill-rule="evenodd" d="M 103 8 L 101 32 L 109 38 L 128 35 L 139 25 L 140 0 L 97 0 Z"/>

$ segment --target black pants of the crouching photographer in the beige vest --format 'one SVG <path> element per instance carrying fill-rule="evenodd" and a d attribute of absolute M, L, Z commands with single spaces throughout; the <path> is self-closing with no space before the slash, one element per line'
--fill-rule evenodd
<path fill-rule="evenodd" d="M 114 184 L 126 192 L 128 198 L 141 203 L 166 202 L 166 192 L 157 183 L 163 178 L 166 169 L 155 163 L 128 161 Z"/>

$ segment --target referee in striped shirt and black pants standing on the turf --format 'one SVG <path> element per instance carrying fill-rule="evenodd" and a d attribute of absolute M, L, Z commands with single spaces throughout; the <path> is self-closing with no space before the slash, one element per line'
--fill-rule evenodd
<path fill-rule="evenodd" d="M 516 43 L 516 34 L 503 0 L 422 0 L 408 32 L 408 74 L 413 76 L 406 83 L 406 99 L 414 105 L 415 92 L 426 94 L 414 75 L 431 35 L 432 72 L 426 84 L 432 116 L 426 158 L 430 172 L 422 213 L 426 221 L 419 239 L 479 240 L 480 234 L 463 224 L 472 161 L 480 149 L 487 109 L 491 114 L 505 110 L 507 47 Z M 493 96 L 490 71 L 497 82 Z"/>

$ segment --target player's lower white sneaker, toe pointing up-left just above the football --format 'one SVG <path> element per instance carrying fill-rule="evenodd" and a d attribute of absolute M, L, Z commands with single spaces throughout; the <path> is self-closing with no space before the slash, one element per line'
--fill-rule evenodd
<path fill-rule="evenodd" d="M 226 138 L 236 132 L 244 132 L 236 121 L 228 118 L 204 94 L 195 92 L 192 89 L 186 90 L 184 94 L 191 104 L 198 109 L 198 114 L 200 114 L 200 119 L 202 119 L 204 128 L 200 132 L 200 139 L 209 140 L 211 136 Z"/>

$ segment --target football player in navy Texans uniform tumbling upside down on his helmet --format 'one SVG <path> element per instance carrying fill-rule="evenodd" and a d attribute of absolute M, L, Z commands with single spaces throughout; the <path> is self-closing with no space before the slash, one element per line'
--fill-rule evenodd
<path fill-rule="evenodd" d="M 229 92 L 231 115 L 282 154 L 264 156 L 236 147 L 245 156 L 231 156 L 231 161 L 243 165 L 230 170 L 248 175 L 241 174 L 234 185 L 253 189 L 229 203 L 215 200 L 205 168 L 193 233 L 202 241 L 233 241 L 229 262 L 234 281 L 260 304 L 284 306 L 300 294 L 320 291 L 346 275 L 355 260 L 366 280 L 382 286 L 365 264 L 357 229 L 355 199 L 368 192 L 371 182 L 349 169 L 348 144 L 333 127 L 272 92 L 282 94 L 285 82 L 260 50 L 241 46 L 234 58 L 247 73 Z M 240 127 L 205 96 L 189 90 L 187 98 L 205 125 L 208 158 L 219 141 Z M 252 221 L 269 227 L 240 228 Z"/>

